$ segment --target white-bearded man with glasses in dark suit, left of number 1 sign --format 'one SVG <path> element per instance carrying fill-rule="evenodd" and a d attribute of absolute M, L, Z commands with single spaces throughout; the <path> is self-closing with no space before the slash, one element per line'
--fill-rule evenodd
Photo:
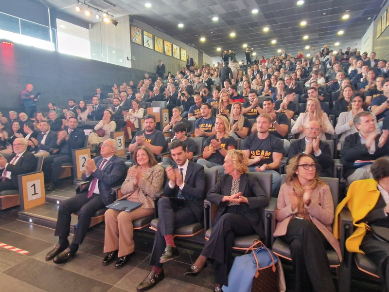
<path fill-rule="evenodd" d="M 18 189 L 18 174 L 33 172 L 36 167 L 34 154 L 27 151 L 26 139 L 16 138 L 12 146 L 15 154 L 8 160 L 0 157 L 0 191 Z"/>

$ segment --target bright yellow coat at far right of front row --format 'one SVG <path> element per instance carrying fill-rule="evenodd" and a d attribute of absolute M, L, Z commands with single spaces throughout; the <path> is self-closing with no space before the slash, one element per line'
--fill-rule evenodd
<path fill-rule="evenodd" d="M 354 181 L 349 186 L 346 198 L 336 207 L 333 234 L 337 239 L 340 237 L 339 214 L 346 204 L 353 217 L 354 233 L 346 239 L 346 248 L 349 252 L 363 254 L 359 246 L 366 234 L 367 224 L 356 222 L 364 219 L 369 214 L 377 204 L 380 194 L 377 189 L 377 182 L 373 179 Z"/>

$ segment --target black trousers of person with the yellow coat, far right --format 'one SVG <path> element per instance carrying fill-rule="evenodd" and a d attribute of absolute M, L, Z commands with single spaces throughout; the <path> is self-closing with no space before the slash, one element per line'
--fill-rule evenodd
<path fill-rule="evenodd" d="M 368 231 L 359 248 L 378 266 L 382 291 L 389 291 L 389 243 L 375 239 Z"/>

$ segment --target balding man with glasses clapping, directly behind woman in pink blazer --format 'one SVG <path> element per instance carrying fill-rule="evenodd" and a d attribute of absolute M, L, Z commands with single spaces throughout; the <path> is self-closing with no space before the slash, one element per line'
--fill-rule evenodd
<path fill-rule="evenodd" d="M 299 153 L 314 156 L 321 166 L 320 176 L 331 177 L 333 160 L 328 143 L 320 141 L 320 124 L 310 121 L 305 126 L 305 137 L 290 144 L 288 162 Z"/>

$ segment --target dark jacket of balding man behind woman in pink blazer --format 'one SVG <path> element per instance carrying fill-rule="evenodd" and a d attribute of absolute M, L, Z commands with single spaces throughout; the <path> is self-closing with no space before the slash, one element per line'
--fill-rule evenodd
<path fill-rule="evenodd" d="M 319 149 L 321 150 L 321 154 L 317 157 L 315 156 L 315 158 L 318 161 L 318 164 L 320 164 L 321 166 L 320 176 L 331 177 L 330 170 L 333 165 L 333 160 L 332 160 L 330 146 L 328 145 L 328 143 L 320 140 Z M 305 151 L 305 138 L 302 138 L 297 141 L 293 141 L 289 147 L 288 163 L 289 160 L 291 160 L 297 154 L 302 153 L 304 151 Z"/>

